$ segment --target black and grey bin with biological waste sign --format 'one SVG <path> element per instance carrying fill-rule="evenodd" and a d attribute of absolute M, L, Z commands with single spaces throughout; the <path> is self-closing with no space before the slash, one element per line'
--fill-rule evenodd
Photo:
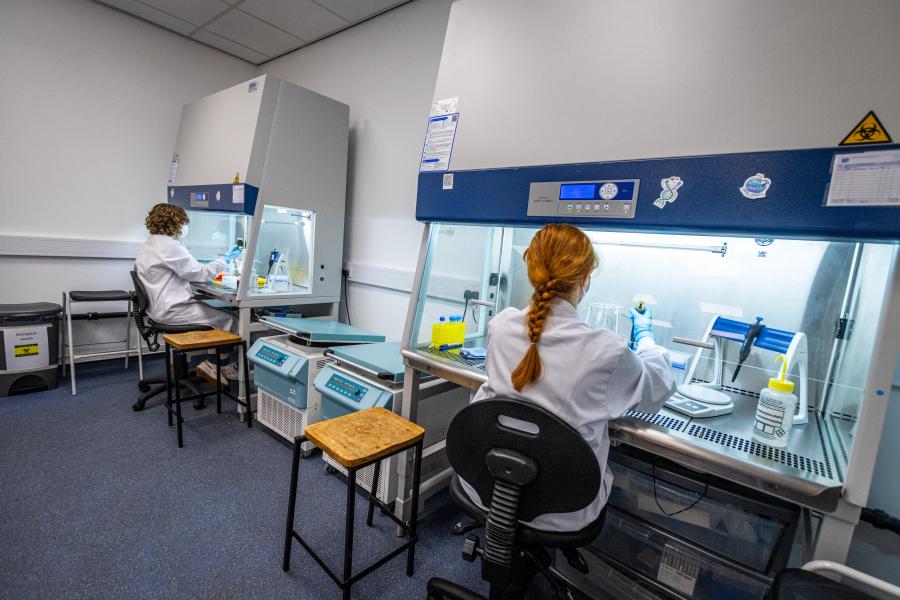
<path fill-rule="evenodd" d="M 0 396 L 56 387 L 61 312 L 52 302 L 0 304 Z"/>

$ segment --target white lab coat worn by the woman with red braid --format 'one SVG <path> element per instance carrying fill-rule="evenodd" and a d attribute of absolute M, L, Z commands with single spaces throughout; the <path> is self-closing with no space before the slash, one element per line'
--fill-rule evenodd
<path fill-rule="evenodd" d="M 501 396 L 534 403 L 578 430 L 597 455 L 603 472 L 600 492 L 587 507 L 571 513 L 547 513 L 525 523 L 546 531 L 577 531 L 600 516 L 612 486 L 607 423 L 632 409 L 657 412 L 675 391 L 668 352 L 649 338 L 637 351 L 606 329 L 592 330 L 567 300 L 553 301 L 544 322 L 538 351 L 541 377 L 517 392 L 511 375 L 531 343 L 526 329 L 528 309 L 507 308 L 488 325 L 488 381 L 473 402 Z M 477 492 L 462 486 L 482 508 Z"/>

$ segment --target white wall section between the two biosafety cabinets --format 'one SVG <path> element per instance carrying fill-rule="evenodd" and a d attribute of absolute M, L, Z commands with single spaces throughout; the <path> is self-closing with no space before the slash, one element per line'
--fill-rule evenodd
<path fill-rule="evenodd" d="M 449 0 L 416 0 L 260 68 L 350 105 L 350 314 L 392 340 L 419 254 L 418 161 L 449 9 Z"/>

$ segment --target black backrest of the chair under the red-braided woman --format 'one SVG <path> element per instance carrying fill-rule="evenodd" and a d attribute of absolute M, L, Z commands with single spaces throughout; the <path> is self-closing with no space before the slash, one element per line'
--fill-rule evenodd
<path fill-rule="evenodd" d="M 507 398 L 460 411 L 447 431 L 447 458 L 485 503 L 498 480 L 520 488 L 521 521 L 585 508 L 602 481 L 597 456 L 578 431 L 539 406 Z"/>

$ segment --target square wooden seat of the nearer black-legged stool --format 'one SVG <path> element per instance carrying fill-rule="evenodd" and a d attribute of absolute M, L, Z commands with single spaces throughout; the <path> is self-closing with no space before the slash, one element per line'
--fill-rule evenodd
<path fill-rule="evenodd" d="M 423 428 L 384 408 L 319 421 L 307 426 L 304 433 L 347 469 L 394 454 L 425 437 Z"/>

